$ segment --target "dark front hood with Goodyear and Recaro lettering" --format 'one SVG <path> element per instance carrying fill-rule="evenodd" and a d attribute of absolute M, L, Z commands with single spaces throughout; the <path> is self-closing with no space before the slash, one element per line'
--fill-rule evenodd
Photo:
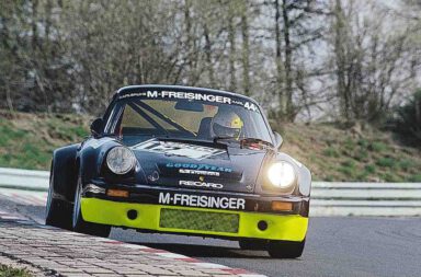
<path fill-rule="evenodd" d="M 252 193 L 266 151 L 152 139 L 132 146 L 149 185 Z M 140 173 L 140 172 L 139 172 Z"/>

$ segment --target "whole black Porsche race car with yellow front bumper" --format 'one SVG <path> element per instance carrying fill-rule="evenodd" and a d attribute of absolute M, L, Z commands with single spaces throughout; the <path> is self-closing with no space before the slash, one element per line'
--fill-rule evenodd
<path fill-rule="evenodd" d="M 298 257 L 311 175 L 280 152 L 252 99 L 210 89 L 120 89 L 92 136 L 54 151 L 46 223 L 223 238 Z"/>

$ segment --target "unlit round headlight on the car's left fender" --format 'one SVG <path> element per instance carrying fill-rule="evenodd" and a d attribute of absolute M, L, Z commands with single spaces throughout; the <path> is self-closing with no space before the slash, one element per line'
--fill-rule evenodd
<path fill-rule="evenodd" d="M 125 147 L 114 147 L 106 155 L 106 165 L 115 174 L 126 174 L 135 166 L 135 154 Z"/>

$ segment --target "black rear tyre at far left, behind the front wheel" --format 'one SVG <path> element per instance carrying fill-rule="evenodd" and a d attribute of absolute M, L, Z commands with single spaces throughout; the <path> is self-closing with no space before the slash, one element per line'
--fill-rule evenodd
<path fill-rule="evenodd" d="M 62 200 L 55 199 L 54 194 L 54 164 L 49 173 L 49 188 L 45 207 L 45 224 L 71 230 L 71 206 Z"/>

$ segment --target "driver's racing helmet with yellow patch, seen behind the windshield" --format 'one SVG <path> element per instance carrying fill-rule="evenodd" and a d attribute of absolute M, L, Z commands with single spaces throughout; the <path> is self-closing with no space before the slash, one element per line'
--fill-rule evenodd
<path fill-rule="evenodd" d="M 210 123 L 210 130 L 215 137 L 229 137 L 239 139 L 243 123 L 232 111 L 219 109 Z"/>

